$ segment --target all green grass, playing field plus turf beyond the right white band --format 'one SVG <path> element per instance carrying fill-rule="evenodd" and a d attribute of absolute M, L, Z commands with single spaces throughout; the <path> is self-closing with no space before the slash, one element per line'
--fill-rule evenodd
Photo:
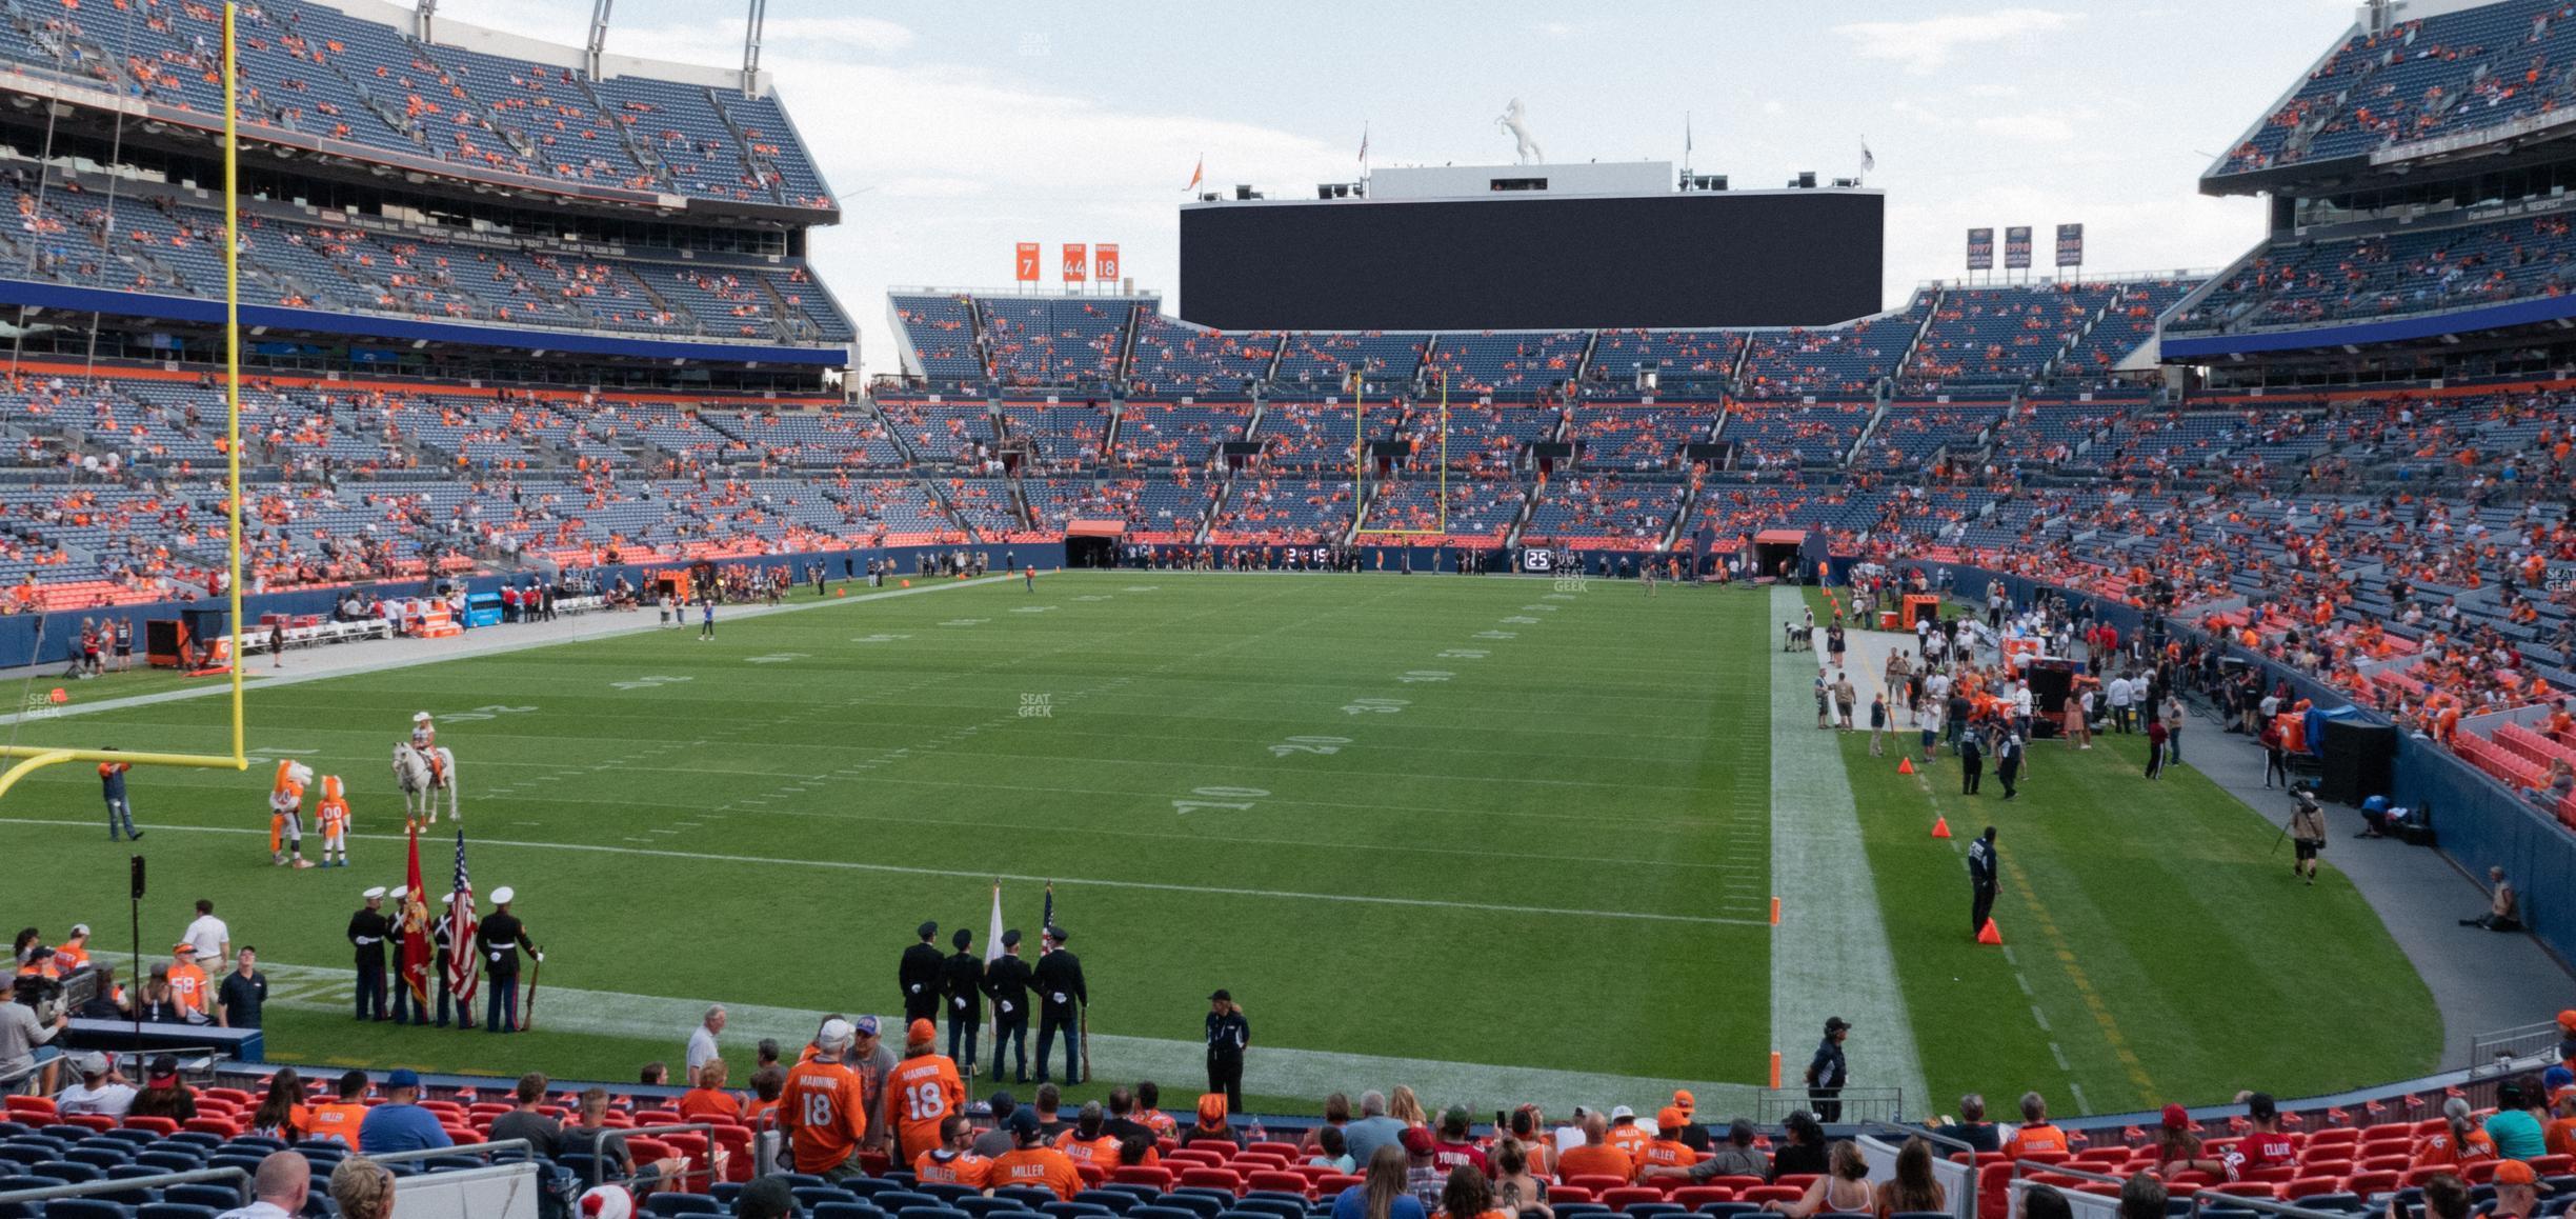
<path fill-rule="evenodd" d="M 345 776 L 358 863 L 268 863 L 265 765 L 139 771 L 137 809 L 160 830 L 147 948 L 214 897 L 278 974 L 345 969 L 358 889 L 402 876 L 386 758 L 428 709 L 459 755 L 477 889 L 515 887 L 549 951 L 544 1031 L 358 1028 L 312 974 L 307 1003 L 270 1013 L 273 1059 L 629 1077 L 675 1059 L 688 1028 L 654 997 L 757 1005 L 799 1033 L 824 1010 L 896 1010 L 914 923 L 938 920 L 943 948 L 945 928 L 981 938 L 994 879 L 1030 936 L 1054 879 L 1090 974 L 1100 1082 L 1072 1095 L 1149 1062 L 1172 1085 L 1211 987 L 1244 1003 L 1255 1064 L 1314 1051 L 1298 1080 L 1327 1080 L 1329 1057 L 1466 1064 L 1425 1093 L 1479 1111 L 1517 1100 L 1484 1095 L 1504 1080 L 1492 1070 L 1752 1085 L 1767 1051 L 1790 1072 L 1803 1059 L 1803 1023 L 1785 1046 L 1770 1028 L 1767 593 L 1069 572 L 719 631 L 252 688 L 255 753 Z M 75 693 L 113 698 L 121 680 Z M 18 740 L 219 750 L 222 724 L 222 701 L 191 698 L 39 719 Z M 2097 750 L 2099 778 L 2014 809 L 2012 858 L 2063 941 L 2017 915 L 2025 997 L 1999 956 L 1950 936 L 1965 881 L 1922 838 L 1924 791 L 1842 747 L 1937 1095 L 2081 1080 L 2092 1108 L 2125 1108 L 2432 1064 L 2429 995 L 2349 887 L 2272 884 L 2269 832 L 2197 778 L 2141 794 Z M 88 920 L 121 951 L 124 853 L 88 768 L 36 773 L 0 809 L 21 876 L 0 910 L 49 936 Z M 451 856 L 440 822 L 430 884 Z M 2334 1057 L 2295 1036 L 2326 1028 Z M 1406 1080 L 1267 1100 L 1391 1082 Z M 1620 1100 L 1654 1098 L 1597 1098 Z"/>

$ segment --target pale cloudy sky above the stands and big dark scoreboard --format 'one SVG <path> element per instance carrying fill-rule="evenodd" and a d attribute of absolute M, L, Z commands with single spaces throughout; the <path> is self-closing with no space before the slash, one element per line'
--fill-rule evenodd
<path fill-rule="evenodd" d="M 580 44 L 587 0 L 443 0 Z M 1373 165 L 1507 162 L 1510 98 L 1553 160 L 1680 160 L 1736 186 L 1888 191 L 1888 304 L 1955 276 L 1971 224 L 2084 222 L 2097 271 L 2208 268 L 2262 204 L 2202 198 L 2236 139 L 2352 21 L 2349 0 L 930 5 L 770 0 L 778 93 L 845 222 L 817 235 L 894 369 L 886 286 L 997 286 L 1012 242 L 1118 242 L 1177 296 L 1177 206 L 1208 180 L 1311 191 Z M 742 5 L 618 0 L 608 49 L 737 64 Z M 1177 302 L 1188 312 L 1185 302 Z"/>

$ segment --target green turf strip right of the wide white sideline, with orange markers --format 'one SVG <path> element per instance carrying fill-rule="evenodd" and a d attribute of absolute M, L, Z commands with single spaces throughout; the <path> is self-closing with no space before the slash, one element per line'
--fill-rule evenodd
<path fill-rule="evenodd" d="M 1860 724 L 1888 642 L 1852 634 Z M 2218 745 L 2215 724 L 2192 734 L 2192 750 Z M 1883 758 L 1868 732 L 1839 737 L 1932 1111 L 1976 1090 L 2007 1113 L 2025 1088 L 2058 1111 L 2151 1111 L 2437 1067 L 2432 992 L 2334 871 L 2331 843 L 2316 887 L 2290 876 L 2287 801 L 2249 812 L 2190 765 L 2148 783 L 2143 734 L 2094 737 L 2089 753 L 2035 742 L 2012 804 L 1991 760 L 1981 794 L 1960 796 L 1947 750 L 1901 776 L 1901 745 L 1919 732 L 1891 734 Z M 1937 817 L 1950 840 L 1932 838 Z M 1968 928 L 1965 845 L 1986 825 L 2004 858 L 2004 948 Z"/>

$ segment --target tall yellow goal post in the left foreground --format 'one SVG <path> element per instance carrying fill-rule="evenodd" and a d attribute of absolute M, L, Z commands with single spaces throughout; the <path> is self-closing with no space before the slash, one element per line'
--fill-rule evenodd
<path fill-rule="evenodd" d="M 224 0 L 224 606 L 232 637 L 232 753 L 126 753 L 64 750 L 49 745 L 0 745 L 0 796 L 31 771 L 59 763 L 185 765 L 198 771 L 250 771 L 242 724 L 242 183 L 240 183 L 240 59 L 237 5 Z"/>

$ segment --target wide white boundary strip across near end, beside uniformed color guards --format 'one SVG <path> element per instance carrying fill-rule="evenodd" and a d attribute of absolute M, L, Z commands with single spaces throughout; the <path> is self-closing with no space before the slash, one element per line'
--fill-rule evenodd
<path fill-rule="evenodd" d="M 260 961 L 268 974 L 268 1003 L 286 1010 L 348 1015 L 355 969 L 327 969 L 301 964 Z M 605 990 L 541 987 L 538 1028 L 556 1033 L 667 1039 L 672 1051 L 698 1026 L 716 1000 L 688 1000 L 662 995 L 621 995 Z M 482 1008 L 482 995 L 477 995 Z M 732 1062 L 747 1064 L 750 1046 L 775 1036 L 783 1046 L 814 1039 L 819 1010 L 770 1008 L 752 1003 L 724 1003 L 724 1046 Z M 479 1018 L 479 1010 L 477 1010 Z M 881 1023 L 894 1021 L 878 1015 Z M 894 1021 L 899 1023 L 899 1021 Z M 422 1036 L 430 1036 L 422 1031 Z M 945 1036 L 945 1033 L 943 1033 Z M 1175 1095 L 1195 1090 L 1206 1070 L 1208 1049 L 1200 1041 L 1092 1033 L 1095 1077 L 1100 1080 L 1162 1080 Z M 984 1067 L 992 1067 L 992 1041 L 976 1046 Z M 1030 1031 L 1036 1054 L 1036 1031 Z M 1030 1067 L 1036 1070 L 1036 1067 Z M 1391 1088 L 1409 1082 L 1437 1106 L 1468 1106 L 1486 1111 L 1497 1106 L 1538 1103 L 1548 1113 L 1569 1113 L 1574 1106 L 1662 1106 L 1674 1088 L 1687 1088 L 1700 1108 L 1723 1113 L 1752 1113 L 1754 1088 L 1716 1080 L 1659 1080 L 1638 1075 L 1592 1075 L 1543 1067 L 1497 1067 L 1481 1062 L 1406 1059 L 1383 1054 L 1332 1054 L 1319 1049 L 1262 1046 L 1244 1057 L 1244 1090 L 1257 1095 L 1311 1095 L 1352 1093 L 1363 1088 Z M 987 1070 L 974 1090 L 989 1090 L 994 1080 Z M 1007 1085 L 1005 1085 L 1007 1088 Z"/>

